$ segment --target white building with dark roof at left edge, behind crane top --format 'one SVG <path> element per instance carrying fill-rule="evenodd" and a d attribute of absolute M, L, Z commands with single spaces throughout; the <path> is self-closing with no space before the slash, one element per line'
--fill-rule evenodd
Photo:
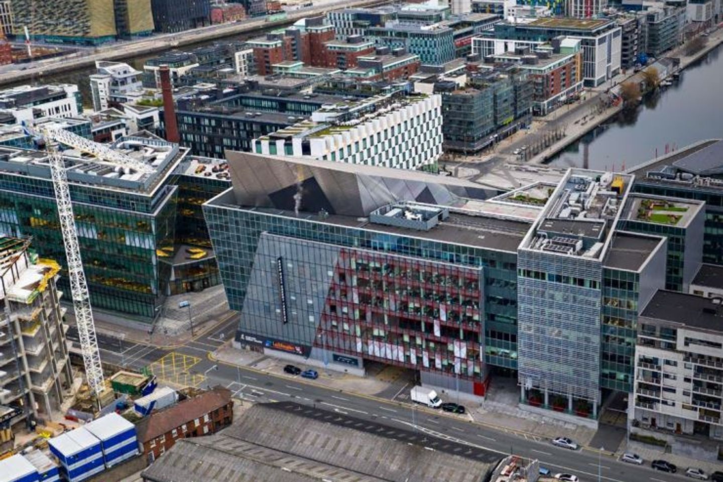
<path fill-rule="evenodd" d="M 40 117 L 74 117 L 80 112 L 77 85 L 20 85 L 0 91 L 0 117 L 12 116 L 17 124 Z"/>

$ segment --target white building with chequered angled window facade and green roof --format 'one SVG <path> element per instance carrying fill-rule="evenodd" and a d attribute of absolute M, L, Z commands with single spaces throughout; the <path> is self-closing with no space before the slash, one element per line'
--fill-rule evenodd
<path fill-rule="evenodd" d="M 254 152 L 423 168 L 442 154 L 442 98 L 395 93 L 325 106 L 312 121 L 255 139 Z"/>

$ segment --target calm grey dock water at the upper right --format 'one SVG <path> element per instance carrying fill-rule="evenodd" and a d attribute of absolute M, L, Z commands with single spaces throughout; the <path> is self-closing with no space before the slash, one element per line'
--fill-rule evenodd
<path fill-rule="evenodd" d="M 589 132 L 549 164 L 620 170 L 655 158 L 656 150 L 657 155 L 664 155 L 666 146 L 672 150 L 701 139 L 723 138 L 722 83 L 723 49 L 719 46 L 688 66 L 672 87 Z"/>

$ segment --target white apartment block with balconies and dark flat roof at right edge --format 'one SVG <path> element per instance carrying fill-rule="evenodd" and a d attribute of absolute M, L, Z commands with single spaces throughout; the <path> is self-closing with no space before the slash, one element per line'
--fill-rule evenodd
<path fill-rule="evenodd" d="M 723 440 L 720 298 L 658 291 L 638 319 L 633 432 Z"/>

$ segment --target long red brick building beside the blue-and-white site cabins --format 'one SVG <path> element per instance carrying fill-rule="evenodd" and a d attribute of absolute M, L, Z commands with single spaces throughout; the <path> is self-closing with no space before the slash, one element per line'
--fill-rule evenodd
<path fill-rule="evenodd" d="M 150 464 L 173 447 L 176 440 L 215 434 L 233 421 L 231 390 L 215 387 L 151 413 L 137 424 L 136 432 Z"/>

